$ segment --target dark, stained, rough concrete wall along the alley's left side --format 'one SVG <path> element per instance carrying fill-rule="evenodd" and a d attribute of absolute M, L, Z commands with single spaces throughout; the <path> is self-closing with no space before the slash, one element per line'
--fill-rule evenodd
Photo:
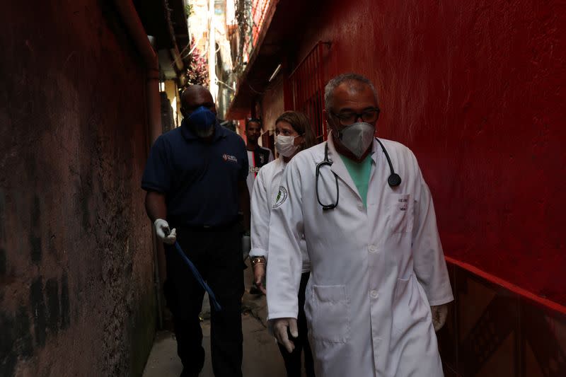
<path fill-rule="evenodd" d="M 0 376 L 139 376 L 155 327 L 144 69 L 108 2 L 0 12 Z"/>

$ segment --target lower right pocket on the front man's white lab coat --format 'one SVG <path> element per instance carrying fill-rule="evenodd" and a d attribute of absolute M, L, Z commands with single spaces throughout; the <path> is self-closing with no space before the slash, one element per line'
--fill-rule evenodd
<path fill-rule="evenodd" d="M 406 279 L 397 279 L 393 298 L 393 327 L 398 332 L 403 333 L 415 323 L 427 320 L 430 308 L 418 284 L 415 274 Z"/>

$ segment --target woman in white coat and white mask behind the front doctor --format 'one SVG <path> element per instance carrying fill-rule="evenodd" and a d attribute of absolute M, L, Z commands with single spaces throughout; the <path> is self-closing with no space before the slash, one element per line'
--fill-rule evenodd
<path fill-rule="evenodd" d="M 279 183 L 287 163 L 299 151 L 313 146 L 315 138 L 308 118 L 301 112 L 287 111 L 280 115 L 275 122 L 275 149 L 279 158 L 263 166 L 255 178 L 251 197 L 251 244 L 250 260 L 253 266 L 255 284 L 265 293 L 263 279 L 265 264 L 269 260 L 269 225 L 273 204 L 277 202 Z M 302 240 L 301 252 L 304 255 L 302 275 L 299 286 L 299 334 L 294 340 L 295 349 L 289 353 L 279 345 L 279 350 L 285 362 L 288 377 L 301 376 L 301 351 L 304 350 L 305 369 L 308 377 L 314 376 L 313 358 L 308 345 L 306 318 L 304 313 L 305 289 L 310 274 L 306 243 Z"/>

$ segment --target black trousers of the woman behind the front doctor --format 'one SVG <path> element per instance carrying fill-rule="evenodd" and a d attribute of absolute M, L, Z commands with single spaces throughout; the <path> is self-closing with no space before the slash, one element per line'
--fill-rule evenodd
<path fill-rule="evenodd" d="M 292 338 L 295 349 L 289 354 L 282 344 L 277 343 L 279 351 L 283 356 L 283 361 L 285 362 L 287 377 L 301 377 L 301 354 L 303 351 L 306 376 L 314 377 L 313 354 L 311 353 L 311 346 L 308 344 L 308 328 L 306 327 L 305 316 L 305 291 L 310 274 L 310 272 L 304 272 L 304 274 L 301 275 L 301 285 L 299 286 L 299 315 L 297 315 L 296 319 L 299 337 Z"/>

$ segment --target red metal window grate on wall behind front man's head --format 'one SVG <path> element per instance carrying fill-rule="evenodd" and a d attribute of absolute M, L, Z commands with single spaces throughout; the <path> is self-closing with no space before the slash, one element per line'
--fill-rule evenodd
<path fill-rule="evenodd" d="M 287 82 L 289 98 L 285 98 L 287 109 L 301 111 L 308 116 L 318 142 L 327 137 L 323 119 L 326 82 L 324 62 L 329 49 L 329 42 L 318 42 L 311 52 L 308 52 L 289 76 Z"/>

